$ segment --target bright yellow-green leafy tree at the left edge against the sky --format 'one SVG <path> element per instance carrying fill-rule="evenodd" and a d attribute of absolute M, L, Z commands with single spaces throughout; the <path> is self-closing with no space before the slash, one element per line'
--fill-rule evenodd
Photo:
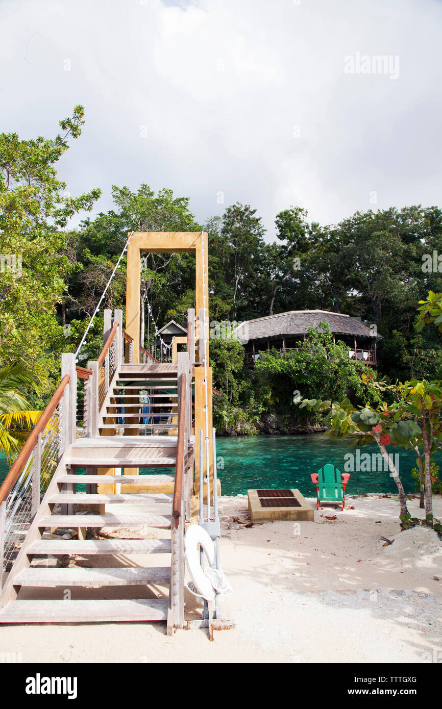
<path fill-rule="evenodd" d="M 82 106 L 75 106 L 53 139 L 0 134 L 0 362 L 19 359 L 43 369 L 51 346 L 62 339 L 55 306 L 70 263 L 60 230 L 100 195 L 93 189 L 74 198 L 57 180 L 55 164 L 69 139 L 79 138 L 83 116 Z"/>

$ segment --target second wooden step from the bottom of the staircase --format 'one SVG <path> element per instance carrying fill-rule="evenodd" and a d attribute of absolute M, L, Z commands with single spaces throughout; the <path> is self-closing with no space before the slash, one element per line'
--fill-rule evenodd
<path fill-rule="evenodd" d="M 17 586 L 146 586 L 168 584 L 170 566 L 123 566 L 117 569 L 44 569 L 30 566 L 14 579 Z"/>

